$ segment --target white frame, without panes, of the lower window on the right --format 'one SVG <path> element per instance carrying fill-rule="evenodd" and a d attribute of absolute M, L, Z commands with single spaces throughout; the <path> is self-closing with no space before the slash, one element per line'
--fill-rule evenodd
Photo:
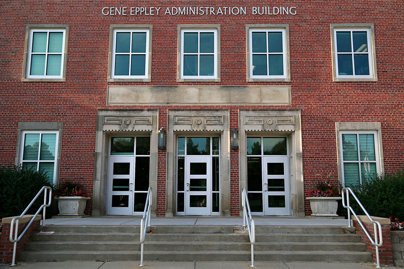
<path fill-rule="evenodd" d="M 342 151 L 342 135 L 343 134 L 356 134 L 357 135 L 357 150 L 358 150 L 358 160 L 344 160 L 343 159 L 343 151 Z M 373 143 L 375 147 L 375 160 L 374 161 L 366 161 L 364 162 L 360 158 L 360 145 L 359 145 L 359 134 L 373 134 Z M 357 163 L 359 164 L 359 183 L 362 184 L 362 163 L 375 163 L 376 164 L 376 173 L 381 174 L 381 166 L 380 166 L 380 149 L 379 149 L 379 134 L 378 131 L 340 131 L 339 132 L 339 150 L 341 156 L 341 175 L 342 175 L 342 186 L 345 186 L 345 175 L 344 175 L 344 164 L 345 163 Z"/>

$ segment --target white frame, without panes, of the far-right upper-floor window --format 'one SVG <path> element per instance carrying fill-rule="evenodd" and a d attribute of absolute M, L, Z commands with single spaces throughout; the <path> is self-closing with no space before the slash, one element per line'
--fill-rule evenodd
<path fill-rule="evenodd" d="M 351 52 L 338 52 L 337 49 L 337 32 L 350 32 L 350 46 Z M 367 37 L 367 52 L 355 52 L 354 51 L 354 39 L 352 37 L 352 32 L 366 32 Z M 369 28 L 334 28 L 334 47 L 335 47 L 335 75 L 337 78 L 373 78 L 373 57 L 372 57 L 372 36 Z M 355 75 L 355 54 L 368 54 L 368 62 L 369 62 L 369 75 Z M 339 75 L 338 71 L 338 55 L 351 55 L 352 57 L 352 72 L 353 75 Z"/>

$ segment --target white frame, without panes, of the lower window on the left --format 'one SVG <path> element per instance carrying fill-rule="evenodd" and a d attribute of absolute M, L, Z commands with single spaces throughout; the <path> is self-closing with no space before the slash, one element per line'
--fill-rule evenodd
<path fill-rule="evenodd" d="M 24 156 L 24 145 L 25 145 L 25 135 L 26 134 L 39 134 L 39 150 L 38 150 L 38 158 L 36 160 L 23 160 Z M 40 145 L 42 142 L 42 134 L 56 134 L 55 141 L 55 159 L 54 160 L 40 160 Z M 54 163 L 54 176 L 52 179 L 52 183 L 54 185 L 57 184 L 57 172 L 58 172 L 58 156 L 59 156 L 59 131 L 21 131 L 21 144 L 20 144 L 20 154 L 19 154 L 19 165 L 22 166 L 23 163 L 37 163 L 36 171 L 39 169 L 40 163 Z"/>

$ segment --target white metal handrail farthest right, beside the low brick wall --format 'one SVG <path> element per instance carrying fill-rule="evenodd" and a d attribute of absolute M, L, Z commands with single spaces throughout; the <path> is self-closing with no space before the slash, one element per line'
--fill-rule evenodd
<path fill-rule="evenodd" d="M 346 192 L 346 201 L 347 201 L 346 205 L 345 205 L 345 192 Z M 354 198 L 358 202 L 359 206 L 361 206 L 362 210 L 365 212 L 366 217 L 368 217 L 368 219 L 373 223 L 373 229 L 374 229 L 374 233 L 375 233 L 375 240 L 373 240 L 373 238 L 369 235 L 368 231 L 365 229 L 364 225 L 362 224 L 361 220 L 358 218 L 358 216 L 355 213 L 354 209 L 352 209 L 352 207 L 349 206 L 349 193 L 352 194 L 352 196 L 354 196 Z M 380 225 L 380 222 L 374 221 L 372 219 L 372 217 L 370 217 L 368 211 L 366 211 L 365 207 L 363 207 L 362 203 L 359 201 L 359 199 L 355 195 L 355 193 L 352 192 L 351 188 L 348 188 L 348 187 L 342 188 L 342 206 L 344 208 L 348 209 L 348 222 L 349 222 L 348 227 L 352 227 L 351 221 L 350 221 L 350 219 L 351 219 L 350 212 L 352 211 L 352 214 L 354 214 L 354 216 L 357 219 L 359 225 L 361 225 L 361 227 L 364 230 L 365 234 L 368 236 L 370 242 L 375 246 L 375 249 L 376 249 L 376 261 L 377 261 L 376 268 L 381 268 L 380 267 L 380 260 L 379 260 L 379 247 L 383 244 L 383 237 L 382 237 L 382 226 Z M 376 226 L 377 226 L 378 229 L 376 229 Z M 377 234 L 378 232 L 379 232 L 379 238 L 378 238 L 378 234 Z"/>

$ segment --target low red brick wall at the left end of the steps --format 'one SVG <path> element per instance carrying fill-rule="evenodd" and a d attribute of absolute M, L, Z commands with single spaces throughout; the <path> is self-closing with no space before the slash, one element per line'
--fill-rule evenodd
<path fill-rule="evenodd" d="M 18 224 L 18 235 L 20 235 L 28 223 Z M 18 255 L 21 251 L 25 249 L 26 243 L 31 240 L 32 233 L 38 227 L 40 221 L 34 221 L 28 230 L 25 232 L 24 236 L 21 238 L 20 241 L 17 242 L 17 249 L 16 249 L 16 261 L 18 260 Z M 13 261 L 13 249 L 14 243 L 10 242 L 10 224 L 6 223 L 3 224 L 3 231 L 0 237 L 0 263 L 11 263 Z M 13 230 L 13 238 L 15 235 L 15 229 Z"/>

